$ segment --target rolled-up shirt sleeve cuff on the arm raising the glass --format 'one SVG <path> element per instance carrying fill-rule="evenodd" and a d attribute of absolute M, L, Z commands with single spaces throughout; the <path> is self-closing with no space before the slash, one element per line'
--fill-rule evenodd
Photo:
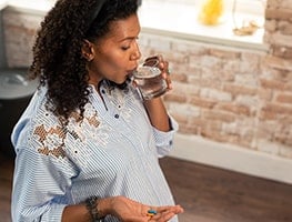
<path fill-rule="evenodd" d="M 153 128 L 154 140 L 157 144 L 157 151 L 159 158 L 165 157 L 172 150 L 174 133 L 179 130 L 178 122 L 171 115 L 169 115 L 169 121 L 170 121 L 171 130 L 168 132 L 163 132 Z"/>

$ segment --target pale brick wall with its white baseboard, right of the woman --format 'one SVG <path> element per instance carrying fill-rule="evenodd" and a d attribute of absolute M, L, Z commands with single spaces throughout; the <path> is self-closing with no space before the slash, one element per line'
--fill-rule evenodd
<path fill-rule="evenodd" d="M 292 1 L 268 1 L 265 17 L 268 51 L 153 32 L 140 44 L 175 71 L 175 157 L 292 183 Z"/>

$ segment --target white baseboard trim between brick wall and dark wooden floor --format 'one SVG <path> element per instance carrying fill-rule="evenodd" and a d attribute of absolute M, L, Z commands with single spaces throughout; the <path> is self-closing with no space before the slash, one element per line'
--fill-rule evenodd
<path fill-rule="evenodd" d="M 170 157 L 292 184 L 292 160 L 201 137 L 178 133 Z"/>

